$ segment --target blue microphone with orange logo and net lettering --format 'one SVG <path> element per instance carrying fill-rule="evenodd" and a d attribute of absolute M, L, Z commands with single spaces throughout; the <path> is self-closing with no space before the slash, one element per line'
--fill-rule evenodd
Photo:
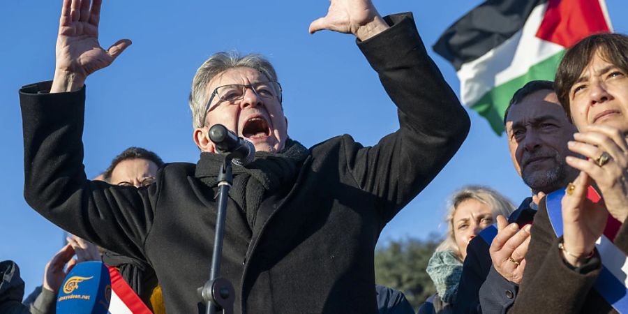
<path fill-rule="evenodd" d="M 57 313 L 107 314 L 111 277 L 103 262 L 77 264 L 63 280 L 57 295 Z"/>

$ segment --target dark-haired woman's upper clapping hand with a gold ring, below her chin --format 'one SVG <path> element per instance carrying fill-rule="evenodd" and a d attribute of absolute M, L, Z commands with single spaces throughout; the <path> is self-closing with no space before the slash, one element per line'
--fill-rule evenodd
<path fill-rule="evenodd" d="M 611 126 L 586 126 L 574 134 L 574 140 L 569 142 L 569 149 L 588 160 L 568 157 L 567 164 L 586 172 L 595 181 L 606 209 L 623 223 L 628 216 L 628 144 L 625 135 Z M 610 158 L 598 165 L 597 160 L 602 154 L 608 154 Z"/>

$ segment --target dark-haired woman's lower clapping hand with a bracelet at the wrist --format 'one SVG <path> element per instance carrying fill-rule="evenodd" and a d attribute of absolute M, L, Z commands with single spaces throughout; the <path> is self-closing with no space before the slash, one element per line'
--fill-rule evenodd
<path fill-rule="evenodd" d="M 578 267 L 590 257 L 595 241 L 604 232 L 608 211 L 586 197 L 590 185 L 586 172 L 580 172 L 572 184 L 573 188 L 568 186 L 562 197 L 562 256 L 569 264 Z"/>

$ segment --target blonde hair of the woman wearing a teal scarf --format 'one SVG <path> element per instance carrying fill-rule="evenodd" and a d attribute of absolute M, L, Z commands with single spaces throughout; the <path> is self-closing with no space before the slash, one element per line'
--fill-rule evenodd
<path fill-rule="evenodd" d="M 456 244 L 456 238 L 454 237 L 454 214 L 456 214 L 456 209 L 459 204 L 470 199 L 486 204 L 488 208 L 491 209 L 491 212 L 493 212 L 493 218 L 498 215 L 503 215 L 508 218 L 516 209 L 514 204 L 504 197 L 504 195 L 486 186 L 465 186 L 454 192 L 447 202 L 447 216 L 445 216 L 447 234 L 438 248 L 436 248 L 436 251 L 452 251 L 461 261 L 462 254 L 460 253 L 458 244 Z"/>

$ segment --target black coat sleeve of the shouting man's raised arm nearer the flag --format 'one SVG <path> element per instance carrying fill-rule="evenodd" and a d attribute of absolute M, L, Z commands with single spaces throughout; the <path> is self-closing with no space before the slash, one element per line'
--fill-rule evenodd
<path fill-rule="evenodd" d="M 359 188 L 384 200 L 381 216 L 387 222 L 454 156 L 470 121 L 428 57 L 412 15 L 385 20 L 389 29 L 358 46 L 397 106 L 400 126 L 373 147 L 345 136 L 345 158 Z"/>

